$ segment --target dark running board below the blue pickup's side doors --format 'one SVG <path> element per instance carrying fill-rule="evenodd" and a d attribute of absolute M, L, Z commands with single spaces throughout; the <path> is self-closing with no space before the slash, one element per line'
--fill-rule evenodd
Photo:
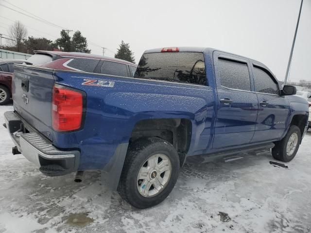
<path fill-rule="evenodd" d="M 224 158 L 229 155 L 237 155 L 240 153 L 249 153 L 249 152 L 253 152 L 253 154 L 259 155 L 259 154 L 262 154 L 260 152 L 270 150 L 271 148 L 274 148 L 274 146 L 275 145 L 273 142 L 269 142 L 269 143 L 255 145 L 255 146 L 248 146 L 244 148 L 223 150 L 223 151 L 216 152 L 216 153 L 194 155 L 194 156 L 187 157 L 185 163 L 186 164 L 207 163 L 215 159 Z M 237 156 L 234 156 L 234 157 L 237 157 Z"/>

